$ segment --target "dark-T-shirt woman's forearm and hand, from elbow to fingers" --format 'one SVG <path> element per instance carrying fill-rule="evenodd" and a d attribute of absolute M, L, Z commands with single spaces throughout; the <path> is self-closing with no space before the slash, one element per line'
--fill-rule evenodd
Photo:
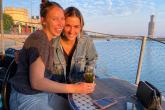
<path fill-rule="evenodd" d="M 52 93 L 92 93 L 95 89 L 94 83 L 63 84 L 44 78 L 35 85 L 33 89 Z"/>

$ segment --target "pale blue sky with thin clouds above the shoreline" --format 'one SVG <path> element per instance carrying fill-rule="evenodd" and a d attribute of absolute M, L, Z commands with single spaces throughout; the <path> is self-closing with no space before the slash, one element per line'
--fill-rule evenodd
<path fill-rule="evenodd" d="M 84 30 L 114 35 L 147 35 L 155 15 L 155 36 L 165 37 L 165 0 L 52 0 L 66 8 L 77 7 L 85 19 Z M 40 0 L 4 0 L 3 7 L 25 7 L 39 15 Z"/>

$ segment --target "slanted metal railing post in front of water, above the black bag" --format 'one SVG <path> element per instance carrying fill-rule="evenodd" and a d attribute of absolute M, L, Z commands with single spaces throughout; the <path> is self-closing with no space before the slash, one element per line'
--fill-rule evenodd
<path fill-rule="evenodd" d="M 143 61 L 143 56 L 144 56 L 144 49 L 145 49 L 145 45 L 146 45 L 146 40 L 147 40 L 147 37 L 144 36 L 143 41 L 142 41 L 142 45 L 141 45 L 141 50 L 140 50 L 138 70 L 137 70 L 137 74 L 136 74 L 136 81 L 135 81 L 136 85 L 138 85 L 139 81 L 140 81 L 140 72 L 141 72 L 141 68 L 142 68 L 142 61 Z"/>

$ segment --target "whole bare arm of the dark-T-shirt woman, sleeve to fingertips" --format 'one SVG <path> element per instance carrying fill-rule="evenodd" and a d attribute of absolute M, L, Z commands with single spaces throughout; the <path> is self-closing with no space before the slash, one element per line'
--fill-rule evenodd
<path fill-rule="evenodd" d="M 41 57 L 30 65 L 30 83 L 36 90 L 53 93 L 92 93 L 94 83 L 63 84 L 44 77 L 45 65 Z"/>

